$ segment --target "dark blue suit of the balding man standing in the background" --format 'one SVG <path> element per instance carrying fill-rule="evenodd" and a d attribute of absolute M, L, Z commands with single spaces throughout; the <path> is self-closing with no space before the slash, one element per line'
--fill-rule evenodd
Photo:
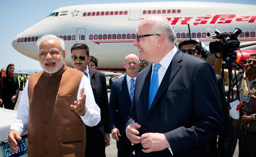
<path fill-rule="evenodd" d="M 130 88 L 130 87 L 129 87 Z M 118 156 L 129 155 L 131 144 L 126 140 L 125 124 L 129 117 L 132 101 L 128 91 L 126 75 L 112 81 L 109 107 L 111 115 L 111 128 L 118 128 L 121 134 L 117 141 Z"/>

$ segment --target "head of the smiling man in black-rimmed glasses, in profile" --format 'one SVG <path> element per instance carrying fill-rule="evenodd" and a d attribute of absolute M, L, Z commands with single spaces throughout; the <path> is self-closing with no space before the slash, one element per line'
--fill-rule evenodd
<path fill-rule="evenodd" d="M 159 63 L 175 44 L 173 27 L 163 16 L 147 16 L 139 23 L 134 46 L 139 49 L 141 60 Z M 143 36 L 147 35 L 147 36 Z"/>

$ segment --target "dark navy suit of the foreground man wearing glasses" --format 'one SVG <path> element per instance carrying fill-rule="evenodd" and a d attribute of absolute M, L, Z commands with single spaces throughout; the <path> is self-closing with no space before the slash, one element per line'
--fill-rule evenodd
<path fill-rule="evenodd" d="M 174 156 L 206 157 L 208 141 L 223 126 L 223 114 L 215 71 L 204 60 L 178 50 L 171 61 L 148 110 L 152 65 L 137 75 L 130 118 L 126 127 L 141 124 L 144 133 L 164 133 Z M 135 144 L 138 157 L 169 157 L 171 152 L 143 153 Z"/>

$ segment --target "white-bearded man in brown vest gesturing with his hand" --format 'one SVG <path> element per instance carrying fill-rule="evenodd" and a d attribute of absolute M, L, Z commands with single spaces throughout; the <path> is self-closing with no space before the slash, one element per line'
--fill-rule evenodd
<path fill-rule="evenodd" d="M 8 135 L 9 147 L 18 151 L 16 139 L 28 130 L 29 157 L 83 157 L 85 125 L 100 122 L 100 108 L 89 80 L 81 71 L 66 66 L 61 38 L 45 35 L 37 40 L 37 46 L 44 70 L 32 75 L 22 92 Z"/>

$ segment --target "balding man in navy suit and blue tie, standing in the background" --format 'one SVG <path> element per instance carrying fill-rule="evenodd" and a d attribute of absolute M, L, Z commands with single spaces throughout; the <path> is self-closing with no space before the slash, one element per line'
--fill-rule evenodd
<path fill-rule="evenodd" d="M 111 135 L 117 141 L 117 156 L 128 157 L 132 146 L 126 140 L 125 124 L 132 105 L 136 76 L 139 69 L 139 57 L 133 53 L 124 60 L 126 75 L 112 81 L 109 107 L 111 115 Z"/>

